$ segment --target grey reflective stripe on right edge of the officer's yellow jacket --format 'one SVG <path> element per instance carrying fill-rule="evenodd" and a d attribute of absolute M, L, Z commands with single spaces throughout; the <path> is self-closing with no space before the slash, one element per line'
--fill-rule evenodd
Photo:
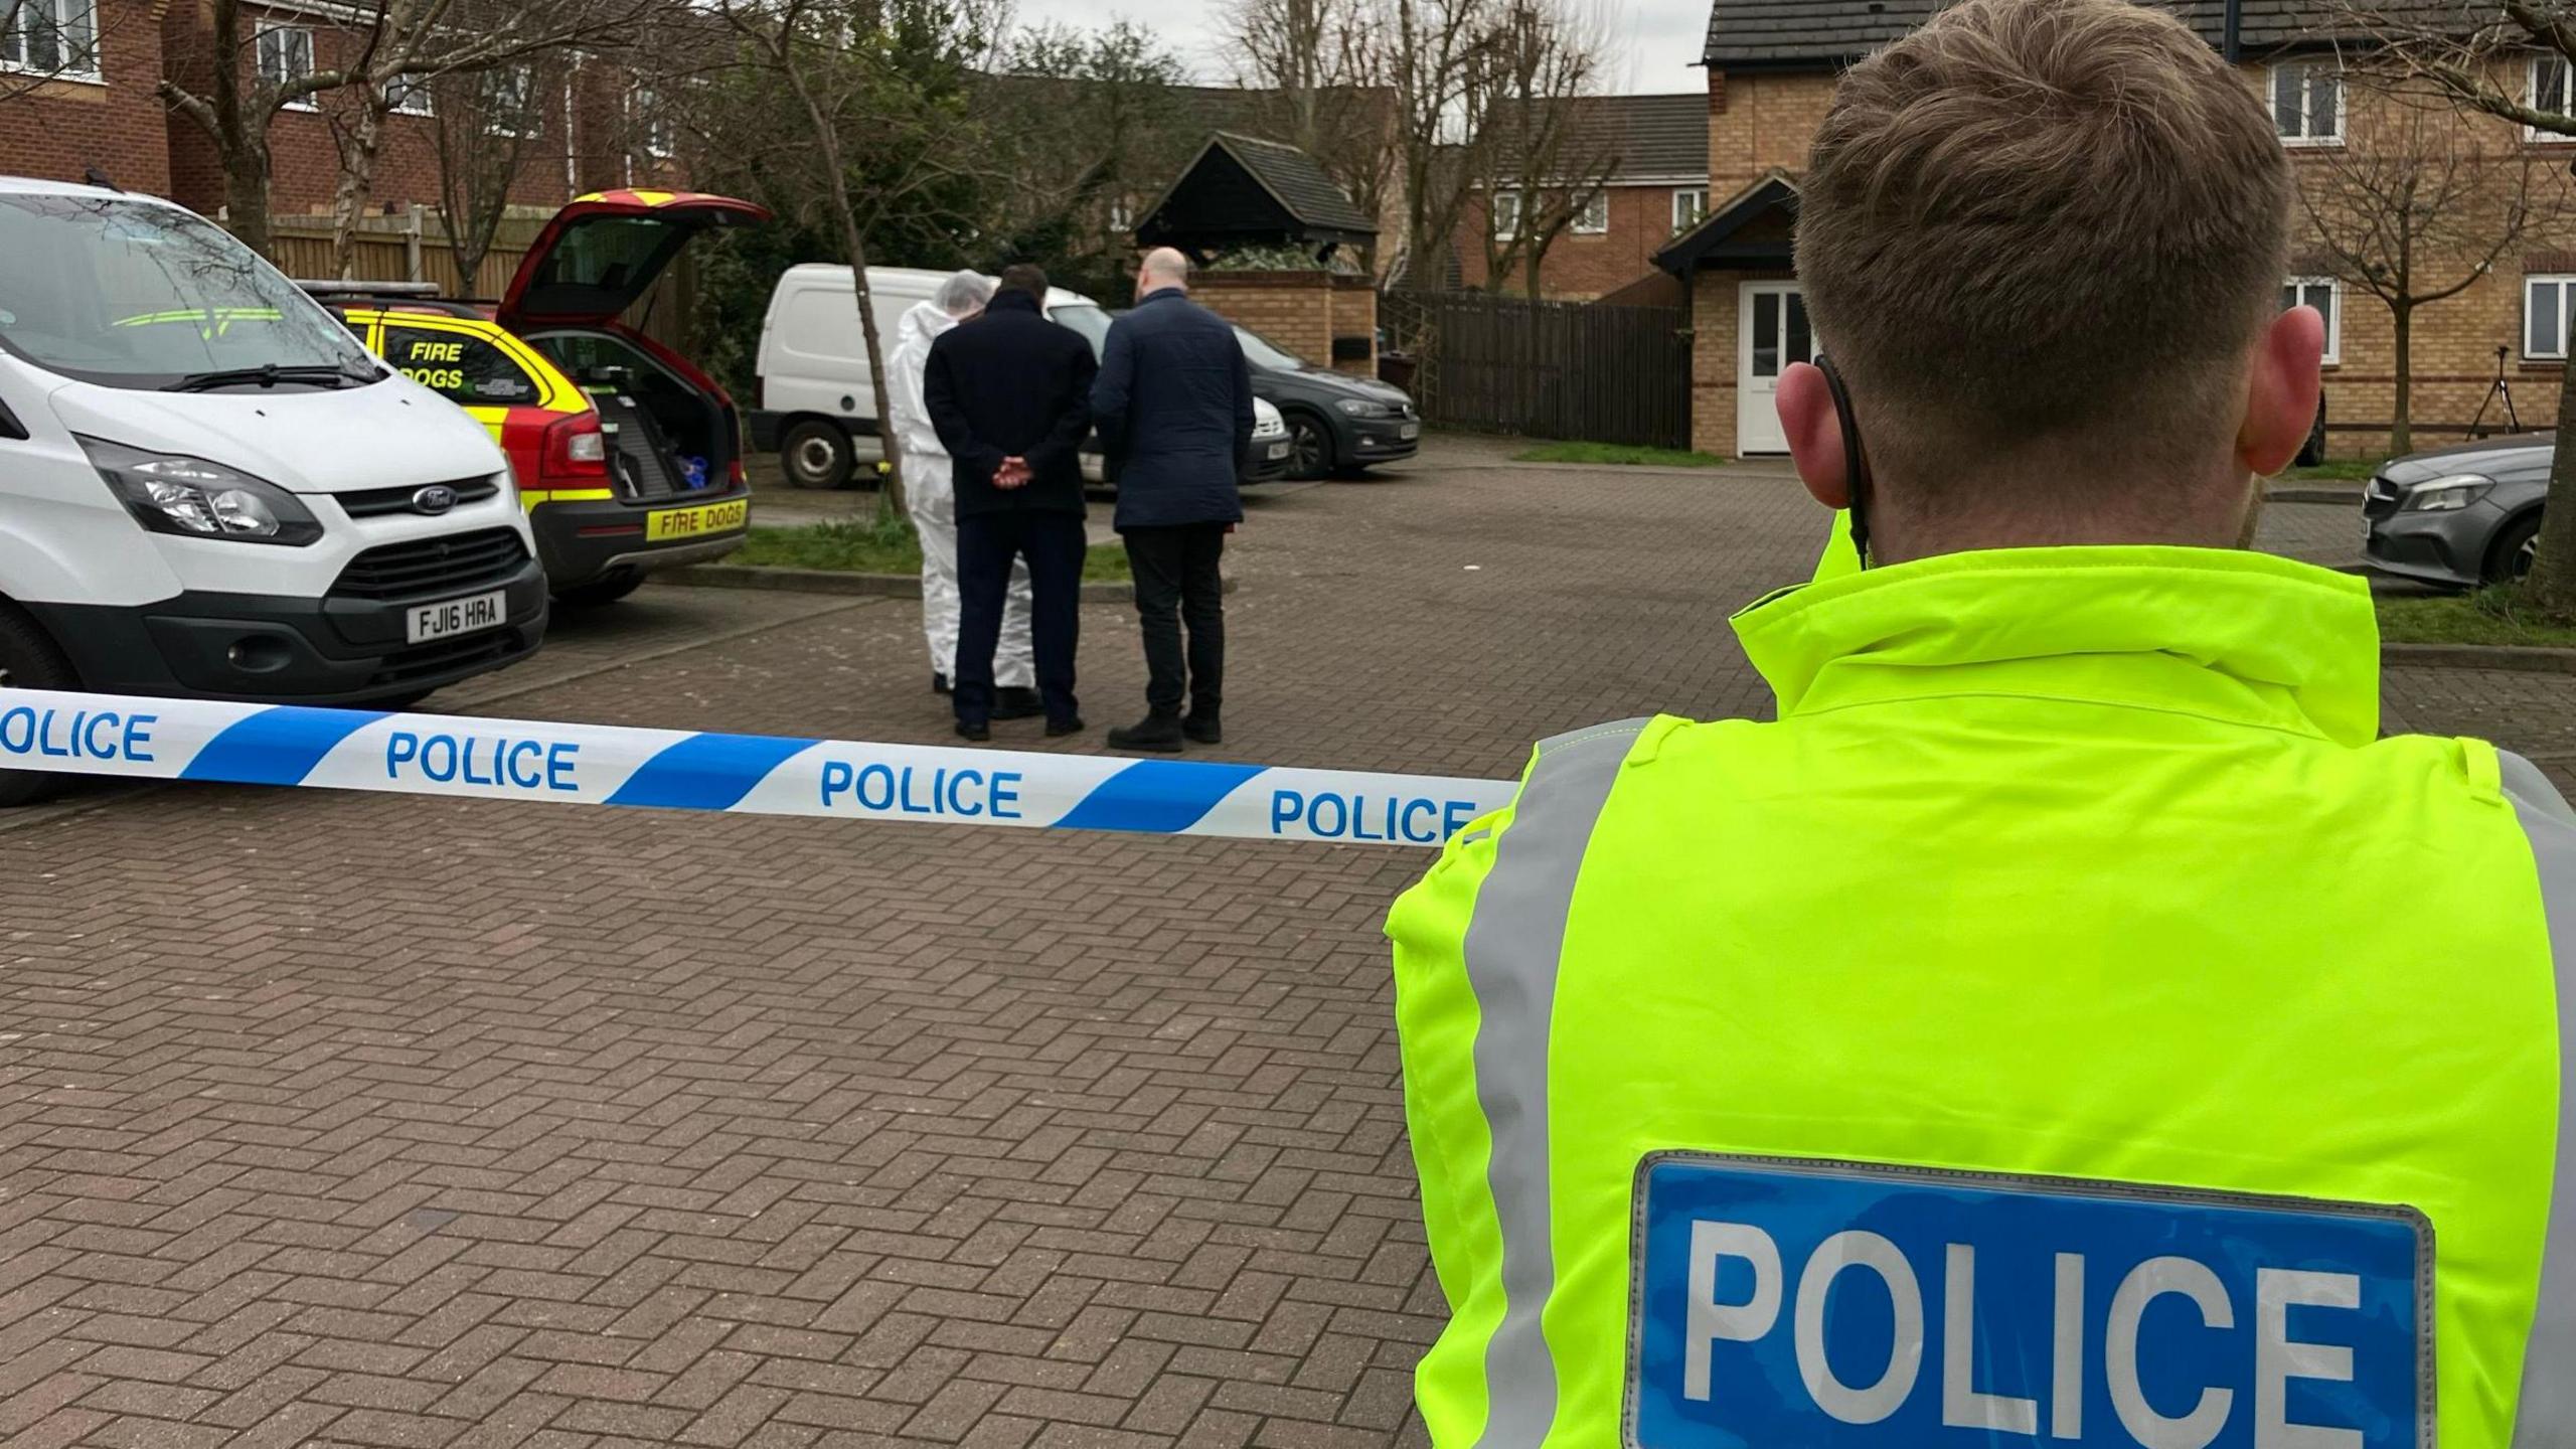
<path fill-rule="evenodd" d="M 2550 1183 L 2550 1240 L 2540 1256 L 2540 1312 L 2522 1348 L 2522 1413 L 2514 1449 L 2576 1449 L 2576 812 L 2522 755 L 2496 753 L 2504 792 L 2532 841 L 2540 900 L 2558 969 L 2558 1176 Z"/>

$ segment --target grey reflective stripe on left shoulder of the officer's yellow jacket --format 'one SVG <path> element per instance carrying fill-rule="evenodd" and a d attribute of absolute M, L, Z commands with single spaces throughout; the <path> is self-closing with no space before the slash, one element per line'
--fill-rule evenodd
<path fill-rule="evenodd" d="M 1486 1183 L 1502 1227 L 1502 1325 L 1484 1348 L 1479 1449 L 1538 1449 L 1556 1421 L 1556 1359 L 1538 1315 L 1556 1289 L 1548 1240 L 1548 1021 L 1574 874 L 1628 745 L 1646 724 L 1605 724 L 1538 745 L 1512 825 L 1466 923 L 1476 993 L 1476 1104 L 1494 1134 Z"/>

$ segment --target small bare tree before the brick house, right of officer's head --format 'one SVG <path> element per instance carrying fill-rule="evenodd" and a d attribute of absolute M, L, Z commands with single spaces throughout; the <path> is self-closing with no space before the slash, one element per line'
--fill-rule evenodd
<path fill-rule="evenodd" d="M 2532 155 L 2501 126 L 2463 124 L 2419 98 L 2367 93 L 2342 147 L 2300 168 L 2313 245 L 2306 271 L 2367 291 L 2396 335 L 2391 451 L 2414 451 L 2414 315 L 2488 276 L 2527 235 L 2563 214 L 2555 178 L 2535 186 Z"/>

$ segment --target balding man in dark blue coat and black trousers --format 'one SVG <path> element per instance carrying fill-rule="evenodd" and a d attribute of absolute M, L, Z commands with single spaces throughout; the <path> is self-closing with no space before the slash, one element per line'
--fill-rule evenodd
<path fill-rule="evenodd" d="M 1110 730 L 1110 748 L 1177 750 L 1182 737 L 1213 745 L 1226 699 L 1218 559 L 1244 518 L 1236 482 L 1252 454 L 1252 369 L 1234 327 L 1190 302 L 1190 263 L 1172 248 L 1146 253 L 1136 271 L 1136 309 L 1110 327 L 1092 420 L 1118 480 L 1149 709 Z"/>

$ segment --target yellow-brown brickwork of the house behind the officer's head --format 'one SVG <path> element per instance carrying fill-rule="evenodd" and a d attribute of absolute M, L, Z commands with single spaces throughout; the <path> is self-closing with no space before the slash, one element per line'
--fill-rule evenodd
<path fill-rule="evenodd" d="M 2244 67 L 2249 85 L 2267 85 L 2264 67 Z M 2506 67 L 2499 80 L 2519 88 L 2519 72 Z M 1708 165 L 1710 204 L 1754 183 L 1765 170 L 1801 170 L 1806 150 L 1824 111 L 1832 103 L 1834 77 L 1829 75 L 1723 75 L 1710 72 L 1708 95 Z M 2367 137 L 2372 101 L 2354 90 L 2347 103 L 2347 131 Z M 2481 116 L 2447 119 L 2458 126 L 2504 126 Z M 2491 276 L 2476 281 L 2460 297 L 2421 307 L 2414 317 L 2414 405 L 2416 449 L 2465 438 L 2465 423 L 2478 413 L 2481 397 L 2496 376 L 2496 345 L 2509 345 L 2506 379 L 2514 389 L 2514 407 L 2524 428 L 2548 428 L 2558 415 L 2558 387 L 2563 364 L 2522 358 L 2522 276 L 2524 271 L 2576 273 L 2576 255 L 2550 255 L 2545 248 L 2576 235 L 2576 183 L 2566 175 L 2566 162 L 2576 160 L 2576 147 L 2537 147 L 2535 186 L 2548 204 L 2563 206 L 2555 224 L 2543 227 L 2524 248 L 2501 258 Z M 2321 168 L 2331 165 L 2326 152 L 2293 150 L 2303 186 L 2316 188 Z M 2303 222 L 2306 227 L 2306 222 Z M 2313 235 L 2300 250 L 2313 255 Z M 2313 268 L 2316 263 L 2303 263 Z M 2445 266 L 2432 258 L 2424 273 Z M 1736 449 L 1736 284 L 1767 273 L 1700 273 L 1692 278 L 1692 446 L 1716 454 Z M 2452 273 L 2458 276 L 2458 273 Z M 2326 418 L 2334 423 L 2329 451 L 2334 456 L 2383 456 L 2388 451 L 2388 420 L 2396 415 L 2396 327 L 2388 307 L 2360 286 L 2342 289 L 2342 348 L 2339 361 L 2326 369 Z M 2501 415 L 2501 405 L 2488 407 L 2488 420 Z"/>

